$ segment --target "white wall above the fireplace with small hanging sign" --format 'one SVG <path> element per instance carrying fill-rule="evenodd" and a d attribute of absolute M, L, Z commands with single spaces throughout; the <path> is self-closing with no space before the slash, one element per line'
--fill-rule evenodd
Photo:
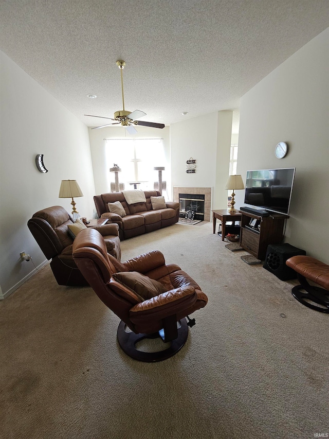
<path fill-rule="evenodd" d="M 232 111 L 217 111 L 170 126 L 172 185 L 211 187 L 211 209 L 226 208 L 232 135 Z M 186 161 L 196 160 L 196 172 Z"/>

